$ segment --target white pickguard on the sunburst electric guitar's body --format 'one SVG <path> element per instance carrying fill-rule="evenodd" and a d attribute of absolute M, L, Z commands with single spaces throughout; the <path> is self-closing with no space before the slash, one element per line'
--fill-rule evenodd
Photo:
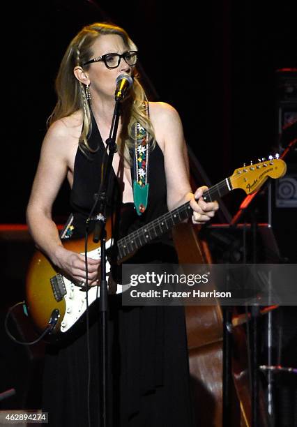
<path fill-rule="evenodd" d="M 110 248 L 112 245 L 112 239 L 109 239 L 106 242 L 106 249 Z M 82 253 L 84 255 L 84 253 Z M 91 250 L 88 252 L 88 258 L 93 258 L 93 260 L 99 260 L 101 257 L 101 248 Z M 121 294 L 128 290 L 129 285 L 119 285 L 119 283 L 114 283 L 110 276 L 110 264 L 107 261 L 106 263 L 106 275 L 109 278 L 108 280 L 108 292 L 109 294 Z M 75 285 L 73 282 L 70 282 L 66 277 L 63 277 L 64 284 L 66 287 L 67 294 L 64 297 L 66 303 L 66 310 L 63 320 L 61 322 L 61 332 L 67 332 L 75 322 L 81 317 L 86 311 L 86 292 L 80 290 L 80 287 Z M 110 285 L 109 285 L 110 283 Z M 92 286 L 88 291 L 88 304 L 91 306 L 93 301 L 100 297 L 100 286 Z"/>

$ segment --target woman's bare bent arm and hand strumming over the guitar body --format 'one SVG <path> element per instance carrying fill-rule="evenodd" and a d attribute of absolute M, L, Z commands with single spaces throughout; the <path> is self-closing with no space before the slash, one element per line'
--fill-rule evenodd
<path fill-rule="evenodd" d="M 47 131 L 33 182 L 26 220 L 33 240 L 40 250 L 59 268 L 77 281 L 84 280 L 84 257 L 63 248 L 52 205 L 68 173 L 69 153 L 75 153 L 77 140 L 62 121 Z M 96 280 L 98 261 L 89 260 L 89 278 Z"/>

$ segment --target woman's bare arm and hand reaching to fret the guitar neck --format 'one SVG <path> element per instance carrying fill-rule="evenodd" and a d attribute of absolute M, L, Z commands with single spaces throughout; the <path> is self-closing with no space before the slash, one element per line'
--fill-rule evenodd
<path fill-rule="evenodd" d="M 192 193 L 189 181 L 188 153 L 183 135 L 183 126 L 176 110 L 164 103 L 153 103 L 151 119 L 155 136 L 164 153 L 167 181 L 167 206 L 169 210 L 190 200 L 194 210 L 193 223 L 205 223 L 218 209 L 217 202 L 204 202 L 201 195 L 205 186 Z"/>

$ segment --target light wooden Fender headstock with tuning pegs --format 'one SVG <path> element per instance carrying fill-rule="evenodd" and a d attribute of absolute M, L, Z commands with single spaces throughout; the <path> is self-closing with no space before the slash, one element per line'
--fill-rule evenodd
<path fill-rule="evenodd" d="M 259 159 L 260 160 L 260 159 Z M 284 176 L 287 165 L 278 156 L 269 156 L 268 160 L 262 159 L 259 163 L 239 167 L 234 170 L 229 180 L 232 188 L 242 188 L 245 193 L 250 194 L 258 190 L 268 177 L 277 179 Z"/>

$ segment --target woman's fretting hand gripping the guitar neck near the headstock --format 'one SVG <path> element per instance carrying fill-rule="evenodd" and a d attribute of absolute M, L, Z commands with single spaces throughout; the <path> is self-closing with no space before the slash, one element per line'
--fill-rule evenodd
<path fill-rule="evenodd" d="M 202 186 L 197 188 L 194 197 L 190 201 L 190 207 L 193 209 L 192 223 L 193 224 L 205 224 L 215 215 L 215 211 L 218 211 L 218 202 L 205 202 L 202 194 L 208 187 Z"/>

